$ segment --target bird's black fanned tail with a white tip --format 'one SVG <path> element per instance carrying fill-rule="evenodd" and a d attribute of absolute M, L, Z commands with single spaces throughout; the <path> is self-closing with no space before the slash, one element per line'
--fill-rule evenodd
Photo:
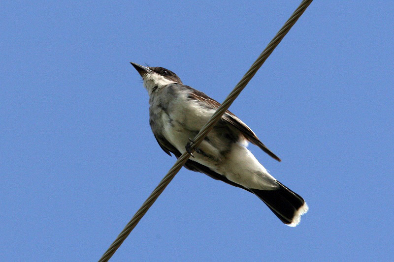
<path fill-rule="evenodd" d="M 290 227 L 295 227 L 298 225 L 301 215 L 308 211 L 308 205 L 298 194 L 281 182 L 276 182 L 279 185 L 279 189 L 260 190 L 250 188 L 250 191 L 263 200 L 283 223 Z"/>

